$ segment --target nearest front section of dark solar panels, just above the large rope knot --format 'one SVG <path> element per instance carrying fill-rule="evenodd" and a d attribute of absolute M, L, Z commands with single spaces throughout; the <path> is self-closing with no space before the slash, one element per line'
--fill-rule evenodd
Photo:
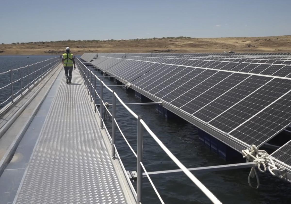
<path fill-rule="evenodd" d="M 288 79 L 160 64 L 132 84 L 249 145 L 291 119 Z"/>

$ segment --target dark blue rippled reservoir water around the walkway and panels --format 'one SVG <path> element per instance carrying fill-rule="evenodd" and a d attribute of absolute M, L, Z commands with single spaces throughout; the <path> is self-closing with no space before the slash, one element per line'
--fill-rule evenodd
<path fill-rule="evenodd" d="M 18 68 L 19 66 L 32 64 L 51 57 L 52 55 L 29 56 L 29 58 L 27 58 L 27 56 L 2 55 L 0 56 L 0 72 L 7 71 L 10 68 Z M 96 74 L 101 76 L 100 73 Z M 4 82 L 3 80 L 5 79 L 0 78 L 0 85 Z M 74 81 L 74 72 L 72 81 Z M 115 83 L 108 78 L 104 78 L 104 82 L 108 85 L 115 85 Z M 114 89 L 124 102 L 139 102 L 139 100 L 135 98 L 134 93 L 127 92 L 120 87 L 115 87 Z M 111 103 L 112 94 L 105 88 L 103 90 L 104 101 Z M 2 90 L 0 90 L 0 96 L 3 97 L 5 93 L 1 91 Z M 130 108 L 138 115 L 143 115 L 143 119 L 152 131 L 187 168 L 222 165 L 227 163 L 218 157 L 217 154 L 211 152 L 209 147 L 203 145 L 198 139 L 198 129 L 194 125 L 181 119 L 167 120 L 155 110 L 155 105 L 130 105 Z M 136 151 L 136 119 L 121 106 L 117 107 L 116 118 L 127 140 Z M 111 120 L 107 119 L 105 124 L 109 132 L 111 132 Z M 116 146 L 126 170 L 136 170 L 136 158 L 119 133 L 116 135 Z M 144 132 L 143 163 L 148 171 L 172 170 L 178 168 L 146 132 Z M 249 170 L 248 168 L 196 173 L 194 175 L 198 177 L 198 179 L 205 184 L 222 203 L 290 203 L 291 184 L 274 178 L 270 173 L 265 173 L 259 174 L 260 188 L 253 189 L 249 187 L 247 182 Z M 188 177 L 183 174 L 172 176 L 159 175 L 151 176 L 151 178 L 165 203 L 211 203 Z M 133 185 L 136 186 L 136 182 L 133 182 Z M 147 178 L 144 179 L 143 188 L 143 203 L 159 203 Z"/>

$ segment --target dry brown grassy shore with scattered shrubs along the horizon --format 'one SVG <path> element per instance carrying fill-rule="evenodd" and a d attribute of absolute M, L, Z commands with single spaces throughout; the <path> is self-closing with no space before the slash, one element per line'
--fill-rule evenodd
<path fill-rule="evenodd" d="M 0 44 L 0 55 L 73 54 L 84 52 L 291 52 L 291 35 L 233 38 L 151 38 L 107 41 L 57 41 Z"/>

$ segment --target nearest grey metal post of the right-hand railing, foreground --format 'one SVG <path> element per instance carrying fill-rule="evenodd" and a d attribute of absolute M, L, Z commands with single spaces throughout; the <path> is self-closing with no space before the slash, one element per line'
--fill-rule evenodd
<path fill-rule="evenodd" d="M 141 203 L 142 199 L 142 188 L 143 188 L 143 172 L 141 163 L 143 161 L 143 125 L 140 122 L 140 119 L 143 119 L 142 116 L 137 117 L 137 160 L 136 160 L 136 171 L 137 171 L 137 180 L 136 180 L 136 203 Z"/>

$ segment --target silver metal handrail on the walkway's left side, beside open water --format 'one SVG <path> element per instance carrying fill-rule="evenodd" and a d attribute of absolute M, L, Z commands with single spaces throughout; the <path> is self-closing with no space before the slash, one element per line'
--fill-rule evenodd
<path fill-rule="evenodd" d="M 55 68 L 58 65 L 59 61 L 60 61 L 59 57 L 52 57 L 50 59 L 36 62 L 34 64 L 26 65 L 26 66 L 19 67 L 16 69 L 10 69 L 8 71 L 0 73 L 0 75 L 10 73 L 9 74 L 10 76 L 8 76 L 10 78 L 9 83 L 4 85 L 3 87 L 0 87 L 0 90 L 1 90 L 3 88 L 10 86 L 10 96 L 8 97 L 8 99 L 5 99 L 4 101 L 2 101 L 0 103 L 0 105 L 6 103 L 9 99 L 11 99 L 10 104 L 9 103 L 6 104 L 6 106 L 3 107 L 0 110 L 0 112 L 3 112 L 2 111 L 3 109 L 7 110 L 13 103 L 18 101 L 21 98 L 21 96 L 23 96 L 23 94 L 28 91 L 28 89 L 31 89 L 33 86 L 35 86 L 35 84 L 38 83 L 41 78 L 45 77 L 45 75 L 47 75 L 47 73 L 49 71 L 51 71 L 53 68 Z M 25 76 L 22 76 L 24 69 L 27 72 L 27 74 Z M 15 75 L 15 73 L 13 73 L 14 71 L 19 72 L 19 78 L 13 81 L 13 75 Z M 32 75 L 32 78 L 31 78 L 31 75 Z M 27 78 L 27 80 L 26 80 L 27 84 L 23 87 L 23 81 L 26 78 Z M 13 93 L 13 91 L 14 91 L 13 85 L 16 82 L 20 82 L 20 89 L 17 90 L 15 93 Z M 31 85 L 32 83 L 33 83 L 33 85 Z M 26 87 L 28 87 L 28 88 L 26 89 Z M 19 94 L 19 95 L 17 95 L 17 94 Z"/>

